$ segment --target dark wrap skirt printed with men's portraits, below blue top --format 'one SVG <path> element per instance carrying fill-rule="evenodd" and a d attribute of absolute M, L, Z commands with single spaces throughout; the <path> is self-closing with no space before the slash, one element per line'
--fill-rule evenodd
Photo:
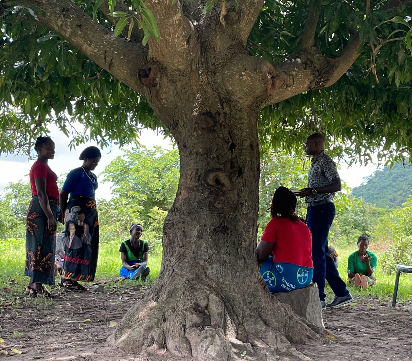
<path fill-rule="evenodd" d="M 62 277 L 94 282 L 99 250 L 96 200 L 87 196 L 71 196 L 65 213 Z"/>

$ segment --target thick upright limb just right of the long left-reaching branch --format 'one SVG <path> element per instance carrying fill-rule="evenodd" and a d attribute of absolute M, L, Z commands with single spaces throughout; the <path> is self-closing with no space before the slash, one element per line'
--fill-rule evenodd
<path fill-rule="evenodd" d="M 145 5 L 157 20 L 160 36 L 149 38 L 149 58 L 174 71 L 187 71 L 199 54 L 197 32 L 193 24 L 183 15 L 180 2 L 147 0 Z"/>

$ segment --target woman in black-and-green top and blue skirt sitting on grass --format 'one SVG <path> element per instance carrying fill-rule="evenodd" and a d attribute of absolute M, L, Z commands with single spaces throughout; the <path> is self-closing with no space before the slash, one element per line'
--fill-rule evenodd
<path fill-rule="evenodd" d="M 149 245 L 146 241 L 140 239 L 143 234 L 143 226 L 133 223 L 129 232 L 131 238 L 122 242 L 119 249 L 123 264 L 122 268 L 120 268 L 120 276 L 136 281 L 138 281 L 140 277 L 140 279 L 145 282 L 150 268 L 147 267 Z"/>

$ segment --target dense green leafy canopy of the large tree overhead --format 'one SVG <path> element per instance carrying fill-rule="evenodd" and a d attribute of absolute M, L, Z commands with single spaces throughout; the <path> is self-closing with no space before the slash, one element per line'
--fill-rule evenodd
<path fill-rule="evenodd" d="M 143 12 L 142 7 L 147 9 L 143 1 L 110 2 L 114 14 L 104 0 L 77 0 L 74 4 L 85 17 L 92 17 L 107 29 L 106 35 L 116 30 L 119 21 L 124 23 L 123 32 L 115 34 L 122 42 L 113 46 L 140 51 L 143 36 L 147 42 L 149 35 L 149 44 L 142 50 L 147 54 L 147 48 L 156 42 L 156 31 L 147 28 L 144 17 L 133 13 L 141 19 L 134 25 L 130 24 L 131 17 L 124 17 L 132 13 L 132 8 L 143 15 L 152 14 L 150 10 Z M 219 26 L 229 33 L 230 22 L 236 16 L 246 19 L 248 6 L 256 6 L 255 2 L 246 4 L 190 0 L 180 5 L 183 14 L 199 28 L 209 17 L 222 15 Z M 333 79 L 337 80 L 333 85 L 318 89 L 328 84 L 315 84 L 321 80 L 313 80 L 308 90 L 295 97 L 285 94 L 285 99 L 272 99 L 275 104 L 269 99 L 260 111 L 261 144 L 276 150 L 299 150 L 306 135 L 318 130 L 332 134 L 336 154 L 346 153 L 356 159 L 368 161 L 372 151 L 379 151 L 379 158 L 389 159 L 411 153 L 412 20 L 406 4 L 395 0 L 265 1 L 248 36 L 247 48 L 250 55 L 274 64 L 274 81 L 282 81 L 282 62 L 296 59 L 298 63 L 297 55 L 302 51 L 330 59 L 346 56 L 344 49 L 348 54 L 359 54 L 339 80 Z M 70 39 L 51 31 L 47 21 L 39 24 L 43 10 L 36 6 L 28 0 L 2 2 L 2 153 L 15 149 L 28 152 L 33 139 L 47 132 L 51 123 L 73 137 L 72 145 L 89 139 L 102 145 L 133 142 L 140 127 L 160 128 L 169 134 L 143 94 L 136 94 L 124 84 L 126 80 L 96 65 L 70 44 Z M 146 23 L 150 25 L 149 15 Z M 161 24 L 163 19 L 156 21 Z M 164 26 L 159 28 L 162 33 Z M 84 126 L 84 132 L 75 122 Z"/>

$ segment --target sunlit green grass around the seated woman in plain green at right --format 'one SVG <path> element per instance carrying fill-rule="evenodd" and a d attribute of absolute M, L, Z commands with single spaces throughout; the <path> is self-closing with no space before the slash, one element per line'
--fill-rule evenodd
<path fill-rule="evenodd" d="M 373 247 L 368 250 L 375 253 L 378 259 L 377 268 L 373 273 L 376 277 L 375 285 L 368 288 L 368 290 L 366 291 L 362 290 L 361 288 L 356 289 L 352 285 L 348 285 L 348 289 L 350 290 L 353 297 L 358 296 L 364 298 L 368 295 L 371 295 L 372 297 L 376 297 L 382 301 L 392 300 L 396 274 L 384 273 L 382 272 L 382 269 L 379 268 L 379 258 L 381 258 L 383 255 L 382 250 L 374 250 Z M 346 283 L 348 280 L 348 257 L 354 251 L 356 251 L 356 245 L 355 247 L 351 248 L 337 248 L 337 253 L 339 255 L 339 274 Z M 327 287 L 327 290 L 330 292 L 330 294 L 332 294 L 330 287 Z M 412 300 L 412 274 L 400 274 L 397 302 L 407 302 L 408 300 Z"/>

